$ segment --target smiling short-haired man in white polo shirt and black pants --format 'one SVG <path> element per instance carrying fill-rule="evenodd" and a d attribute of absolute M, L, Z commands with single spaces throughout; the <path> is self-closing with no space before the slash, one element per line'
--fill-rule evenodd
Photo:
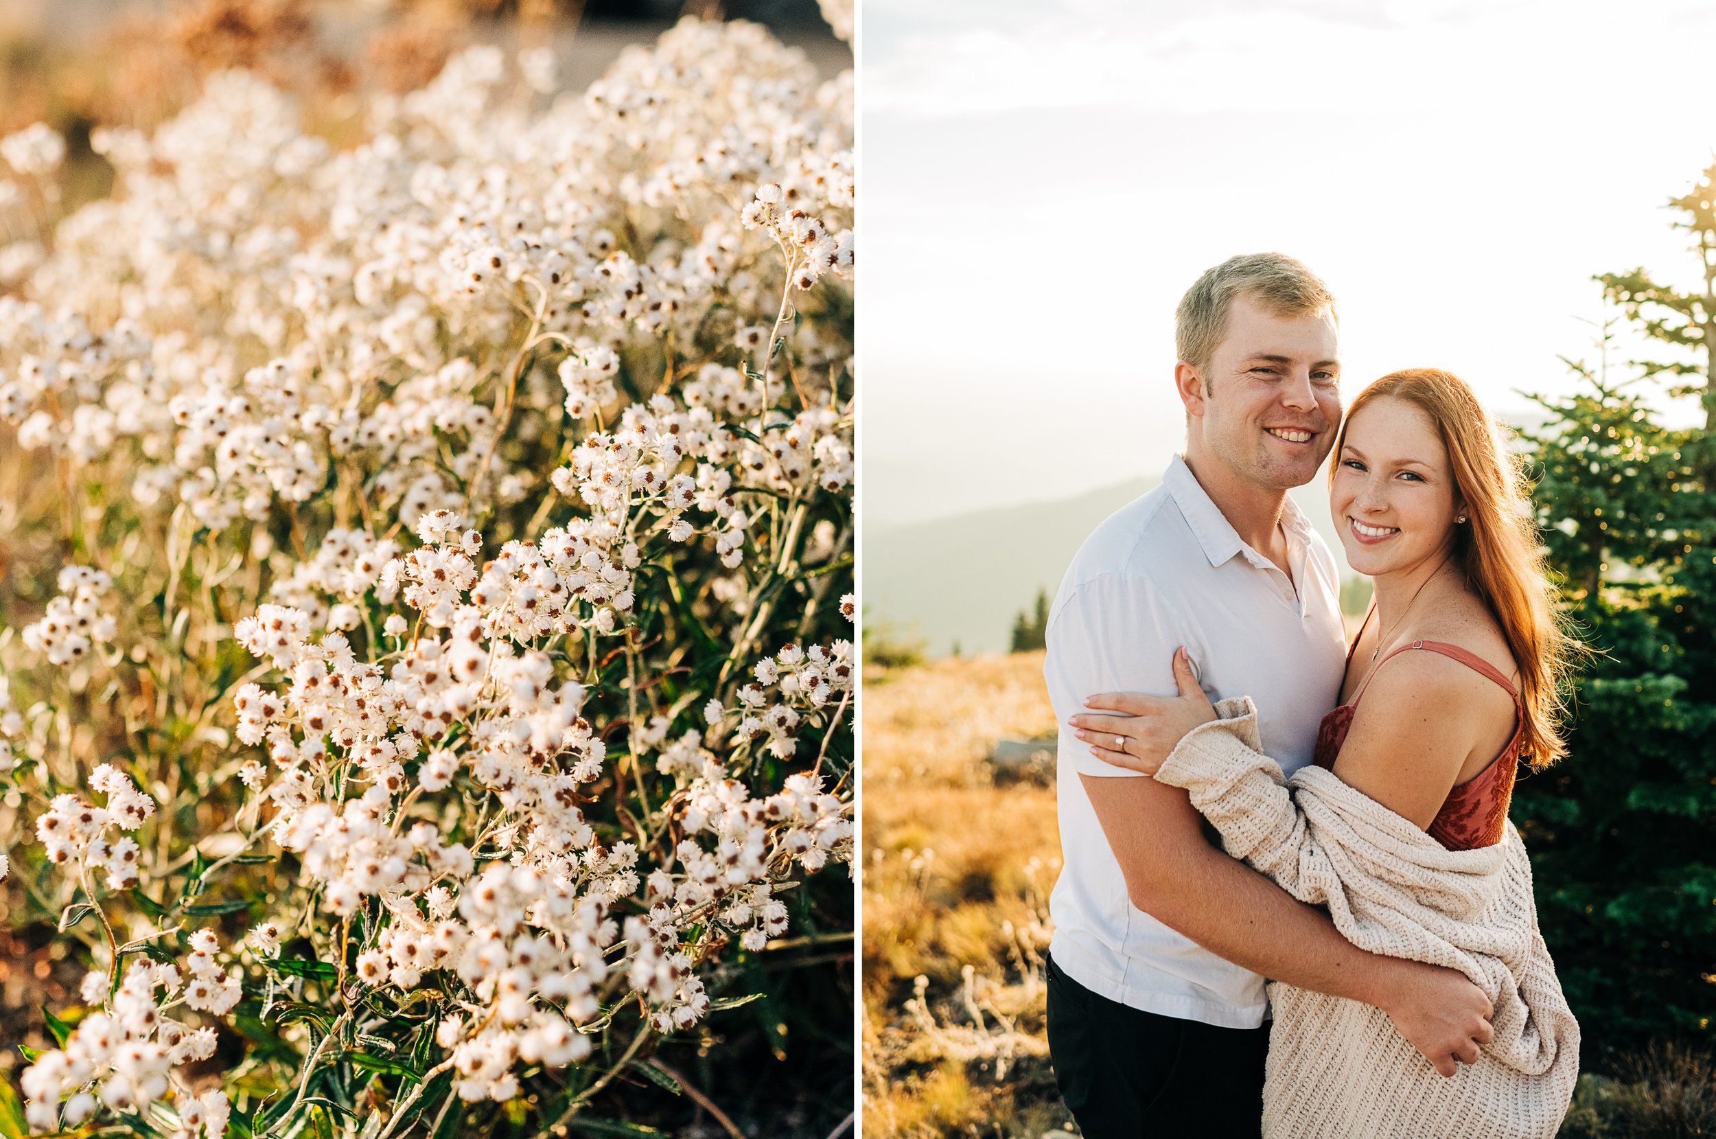
<path fill-rule="evenodd" d="M 1091 1139 L 1254 1137 L 1265 976 L 1383 1009 L 1443 1074 L 1491 1014 L 1455 971 L 1356 949 L 1224 854 L 1184 791 L 1103 763 L 1067 724 L 1095 693 L 1175 695 L 1184 645 L 1215 698 L 1256 700 L 1292 774 L 1340 695 L 1335 559 L 1287 497 L 1340 427 L 1333 297 L 1292 257 L 1232 257 L 1181 300 L 1175 340 L 1186 455 L 1085 542 L 1047 630 L 1064 853 L 1048 1048 Z"/>

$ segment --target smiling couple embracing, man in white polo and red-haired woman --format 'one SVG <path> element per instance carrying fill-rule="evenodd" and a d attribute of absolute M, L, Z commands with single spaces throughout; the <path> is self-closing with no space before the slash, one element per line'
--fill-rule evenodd
<path fill-rule="evenodd" d="M 1234 257 L 1177 312 L 1186 453 L 1048 618 L 1048 1046 L 1085 1136 L 1543 1137 L 1579 1026 L 1507 820 L 1563 751 L 1519 463 L 1455 376 L 1342 417 L 1335 304 Z M 1330 509 L 1375 602 L 1352 643 Z M 1211 703 L 1213 698 L 1213 703 Z"/>

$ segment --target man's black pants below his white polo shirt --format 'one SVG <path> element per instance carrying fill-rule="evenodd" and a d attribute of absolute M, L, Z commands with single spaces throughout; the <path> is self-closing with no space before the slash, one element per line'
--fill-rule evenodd
<path fill-rule="evenodd" d="M 1086 1139 L 1258 1139 L 1270 1029 L 1098 997 L 1048 961 L 1048 1058 Z"/>

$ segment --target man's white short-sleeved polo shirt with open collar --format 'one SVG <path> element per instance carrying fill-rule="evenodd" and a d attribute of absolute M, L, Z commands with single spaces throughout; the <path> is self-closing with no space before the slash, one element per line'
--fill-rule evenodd
<path fill-rule="evenodd" d="M 1043 676 L 1060 722 L 1062 851 L 1050 954 L 1069 978 L 1133 1009 L 1256 1028 L 1268 1000 L 1261 976 L 1131 904 L 1079 774 L 1141 775 L 1093 756 L 1067 719 L 1093 693 L 1175 695 L 1172 655 L 1186 645 L 1211 700 L 1256 702 L 1263 748 L 1287 774 L 1309 763 L 1345 671 L 1340 580 L 1292 499 L 1282 530 L 1290 580 L 1239 539 L 1175 455 L 1162 485 L 1085 540 L 1048 614 Z"/>

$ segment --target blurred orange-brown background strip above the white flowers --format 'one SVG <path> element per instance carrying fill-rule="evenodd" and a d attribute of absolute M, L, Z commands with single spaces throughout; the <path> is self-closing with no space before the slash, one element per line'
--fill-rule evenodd
<path fill-rule="evenodd" d="M 815 0 L 5 0 L 0 136 L 33 122 L 63 134 L 76 209 L 113 182 L 89 132 L 153 130 L 213 70 L 264 75 L 299 96 L 316 134 L 355 142 L 355 96 L 420 87 L 472 43 L 551 46 L 561 87 L 582 91 L 681 15 L 765 24 L 824 77 L 851 67 Z"/>

